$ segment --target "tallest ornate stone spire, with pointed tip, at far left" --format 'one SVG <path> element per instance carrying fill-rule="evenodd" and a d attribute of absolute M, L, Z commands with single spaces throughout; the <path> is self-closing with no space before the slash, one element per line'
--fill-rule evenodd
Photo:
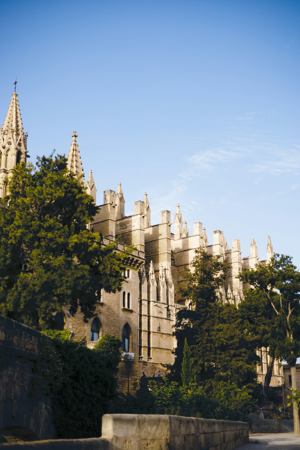
<path fill-rule="evenodd" d="M 27 156 L 27 131 L 24 135 L 18 95 L 14 91 L 4 123 L 0 128 L 0 197 L 6 195 L 4 180 L 13 167 Z"/>

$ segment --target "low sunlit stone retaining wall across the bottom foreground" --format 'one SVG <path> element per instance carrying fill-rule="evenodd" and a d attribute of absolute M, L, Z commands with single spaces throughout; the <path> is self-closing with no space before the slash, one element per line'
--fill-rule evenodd
<path fill-rule="evenodd" d="M 247 442 L 248 424 L 155 414 L 105 414 L 102 437 L 2 444 L 20 450 L 234 450 Z"/>

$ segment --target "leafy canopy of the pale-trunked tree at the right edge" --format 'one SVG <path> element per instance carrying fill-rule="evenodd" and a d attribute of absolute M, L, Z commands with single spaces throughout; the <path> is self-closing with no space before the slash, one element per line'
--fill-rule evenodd
<path fill-rule="evenodd" d="M 241 311 L 250 324 L 256 314 L 260 335 L 275 355 L 295 365 L 300 355 L 300 272 L 292 258 L 275 254 L 269 264 L 243 270 L 241 278 L 251 285 Z"/>

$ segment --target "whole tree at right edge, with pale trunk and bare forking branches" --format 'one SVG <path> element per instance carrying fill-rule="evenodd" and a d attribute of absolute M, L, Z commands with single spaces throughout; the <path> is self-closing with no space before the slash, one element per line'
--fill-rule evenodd
<path fill-rule="evenodd" d="M 242 279 L 251 285 L 247 293 L 249 298 L 251 293 L 260 293 L 260 298 L 273 310 L 273 351 L 276 357 L 290 365 L 292 388 L 296 389 L 296 360 L 300 355 L 300 272 L 292 264 L 291 257 L 275 254 L 269 264 L 256 264 L 255 270 L 243 270 Z M 299 435 L 295 402 L 293 413 L 294 431 Z"/>

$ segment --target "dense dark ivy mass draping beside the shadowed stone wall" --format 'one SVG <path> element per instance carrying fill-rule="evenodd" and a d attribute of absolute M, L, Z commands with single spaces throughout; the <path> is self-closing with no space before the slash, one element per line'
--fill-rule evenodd
<path fill-rule="evenodd" d="M 50 397 L 56 438 L 98 437 L 116 394 L 121 340 L 106 334 L 90 350 L 69 335 L 67 330 L 42 335 L 31 395 Z"/>

